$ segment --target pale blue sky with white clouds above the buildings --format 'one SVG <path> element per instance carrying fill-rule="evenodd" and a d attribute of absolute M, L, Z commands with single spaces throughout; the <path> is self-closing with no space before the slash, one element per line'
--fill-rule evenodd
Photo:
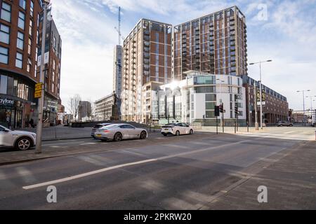
<path fill-rule="evenodd" d="M 303 109 L 302 93 L 316 96 L 316 0 L 51 0 L 62 38 L 60 97 L 94 102 L 112 90 L 114 46 L 141 18 L 179 25 L 223 8 L 237 6 L 246 16 L 248 62 L 262 64 L 263 84 L 287 97 L 289 108 Z M 249 66 L 258 80 L 259 66 Z M 315 98 L 316 99 L 316 98 Z M 310 108 L 310 99 L 305 99 Z M 316 102 L 314 102 L 316 107 Z"/>

